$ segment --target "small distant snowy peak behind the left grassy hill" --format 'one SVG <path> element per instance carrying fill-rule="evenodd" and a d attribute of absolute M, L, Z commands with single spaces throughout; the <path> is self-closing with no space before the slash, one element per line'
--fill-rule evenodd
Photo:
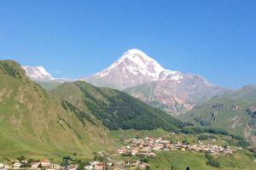
<path fill-rule="evenodd" d="M 23 65 L 22 68 L 26 71 L 26 75 L 35 81 L 52 81 L 52 77 L 43 66 L 28 66 Z"/>

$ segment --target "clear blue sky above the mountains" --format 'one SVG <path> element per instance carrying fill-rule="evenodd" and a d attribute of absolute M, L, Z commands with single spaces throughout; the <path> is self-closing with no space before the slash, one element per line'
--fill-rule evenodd
<path fill-rule="evenodd" d="M 256 83 L 256 1 L 1 0 L 0 59 L 54 77 L 101 71 L 139 48 L 224 87 Z"/>

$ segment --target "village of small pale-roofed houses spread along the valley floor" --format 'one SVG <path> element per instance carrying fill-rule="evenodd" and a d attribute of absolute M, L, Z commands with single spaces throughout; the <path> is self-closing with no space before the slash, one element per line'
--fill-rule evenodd
<path fill-rule="evenodd" d="M 188 144 L 186 142 L 171 142 L 168 139 L 163 138 L 131 138 L 121 139 L 124 146 L 111 150 L 111 154 L 106 156 L 108 161 L 97 161 L 93 160 L 82 169 L 84 170 L 106 170 L 106 169 L 128 169 L 128 167 L 139 167 L 141 169 L 147 169 L 149 167 L 147 158 L 154 157 L 157 155 L 157 151 L 174 151 L 174 150 L 196 150 L 210 153 L 212 155 L 230 155 L 233 154 L 235 149 L 231 149 L 230 146 L 219 146 L 217 144 L 203 144 L 199 140 L 197 144 Z M 239 148 L 241 149 L 241 148 Z M 110 159 L 111 156 L 127 157 L 126 161 Z M 134 159 L 130 160 L 129 157 L 136 156 L 137 161 Z M 26 165 L 26 166 L 24 166 Z M 29 166 L 27 166 L 29 165 Z M 81 167 L 80 167 L 81 168 Z M 44 170 L 56 170 L 56 169 L 68 169 L 77 170 L 79 165 L 73 164 L 65 167 L 49 160 L 42 161 L 27 161 L 26 159 L 14 162 L 13 165 L 4 165 L 0 163 L 0 170 L 6 169 L 44 169 Z"/>

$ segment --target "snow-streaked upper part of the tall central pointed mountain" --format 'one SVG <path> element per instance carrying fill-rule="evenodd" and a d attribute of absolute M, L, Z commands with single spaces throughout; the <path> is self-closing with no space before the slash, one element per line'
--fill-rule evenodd
<path fill-rule="evenodd" d="M 164 69 L 157 61 L 142 51 L 130 49 L 107 69 L 85 79 L 96 86 L 125 89 L 166 78 L 179 82 L 183 76 L 178 71 Z"/>

